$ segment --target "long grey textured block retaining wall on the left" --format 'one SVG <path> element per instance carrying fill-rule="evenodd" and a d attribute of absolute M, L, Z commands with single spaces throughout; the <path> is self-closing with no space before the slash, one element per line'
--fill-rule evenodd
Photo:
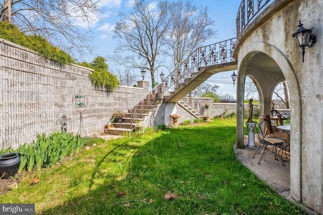
<path fill-rule="evenodd" d="M 37 133 L 60 131 L 64 123 L 68 132 L 96 136 L 113 112 L 128 112 L 145 94 L 139 87 L 97 88 L 90 72 L 78 65 L 61 66 L 0 39 L 0 148 L 31 143 Z"/>

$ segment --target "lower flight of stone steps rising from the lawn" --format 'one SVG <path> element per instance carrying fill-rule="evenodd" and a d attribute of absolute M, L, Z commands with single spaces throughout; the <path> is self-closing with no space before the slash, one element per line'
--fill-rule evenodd
<path fill-rule="evenodd" d="M 129 136 L 131 132 L 135 131 L 136 126 L 145 125 L 145 120 L 148 120 L 154 109 L 162 102 L 163 101 L 159 99 L 157 101 L 153 101 L 149 105 L 137 106 L 137 116 L 135 118 L 131 117 L 129 110 L 128 113 L 126 113 L 122 118 L 121 123 L 113 123 L 112 128 L 106 128 L 105 125 L 104 133 L 110 135 Z M 133 123 L 131 122 L 132 119 L 134 119 Z"/>

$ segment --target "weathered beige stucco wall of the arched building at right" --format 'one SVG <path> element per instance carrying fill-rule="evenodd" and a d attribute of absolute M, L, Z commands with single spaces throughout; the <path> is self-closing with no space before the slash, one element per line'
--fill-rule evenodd
<path fill-rule="evenodd" d="M 268 8 L 270 16 L 259 16 L 249 31 L 240 35 L 236 49 L 238 59 L 237 102 L 243 102 L 244 79 L 252 75 L 260 96 L 260 110 L 270 108 L 273 84 L 286 79 L 291 101 L 291 197 L 318 213 L 322 210 L 322 76 L 321 42 L 323 1 L 275 1 L 288 3 L 284 7 Z M 299 20 L 305 28 L 312 28 L 317 36 L 313 47 L 305 48 L 302 63 L 301 49 L 292 34 Z M 248 30 L 248 29 L 247 29 Z M 257 65 L 265 53 L 270 60 Z M 251 66 L 252 65 L 252 66 Z M 278 67 L 277 67 L 277 66 Z M 257 67 L 258 66 L 258 67 Z M 259 68 L 262 68 L 259 70 Z M 279 68 L 280 73 L 273 73 Z M 238 110 L 237 138 L 243 139 L 242 111 Z"/>

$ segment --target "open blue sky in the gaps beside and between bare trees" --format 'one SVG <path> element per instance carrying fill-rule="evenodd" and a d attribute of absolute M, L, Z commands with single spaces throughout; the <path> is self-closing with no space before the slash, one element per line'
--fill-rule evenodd
<path fill-rule="evenodd" d="M 113 39 L 114 34 L 112 30 L 116 21 L 119 20 L 118 12 L 130 11 L 131 4 L 134 0 L 102 0 L 101 2 L 104 15 L 89 26 L 94 34 L 94 45 L 97 47 L 96 54 L 88 56 L 88 59 L 85 59 L 89 62 L 96 56 L 106 57 L 108 55 L 113 55 L 113 51 L 117 46 L 117 41 Z M 193 1 L 193 3 L 197 6 L 201 5 L 203 7 L 208 7 L 208 16 L 214 20 L 213 28 L 214 30 L 217 30 L 219 34 L 217 38 L 206 42 L 205 45 L 236 37 L 236 16 L 241 0 L 199 0 Z M 77 22 L 77 24 L 80 28 L 88 28 L 87 24 L 81 21 Z M 110 69 L 113 69 L 112 65 L 109 64 L 109 60 L 107 63 Z M 164 73 L 166 72 L 164 71 Z M 229 71 L 213 75 L 209 79 L 209 83 L 220 86 L 218 89 L 219 94 L 230 94 L 236 96 L 236 87 L 233 87 L 231 79 L 232 73 L 233 71 Z M 148 73 L 146 73 L 145 80 L 150 80 Z"/>

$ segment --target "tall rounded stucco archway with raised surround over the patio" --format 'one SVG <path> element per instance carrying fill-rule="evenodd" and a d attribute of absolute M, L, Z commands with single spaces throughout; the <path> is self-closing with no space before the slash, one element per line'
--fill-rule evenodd
<path fill-rule="evenodd" d="M 259 43 L 259 42 L 258 42 Z M 260 49 L 260 50 L 259 50 Z M 291 147 L 290 153 L 292 159 L 289 161 L 290 168 L 288 169 L 288 177 L 290 181 L 290 194 L 299 196 L 301 184 L 301 154 L 299 138 L 300 124 L 297 118 L 301 113 L 299 86 L 296 79 L 295 71 L 291 67 L 288 59 L 283 53 L 275 47 L 262 43 L 250 44 L 249 50 L 242 57 L 238 65 L 238 80 L 237 80 L 237 145 L 243 142 L 242 128 L 243 123 L 243 101 L 245 99 L 246 77 L 250 77 L 259 94 L 259 109 L 260 116 L 263 114 L 271 114 L 271 102 L 275 97 L 275 88 L 286 80 L 286 84 L 291 93 L 290 109 L 291 109 Z M 276 89 L 277 90 L 277 89 Z M 241 147 L 241 145 L 239 146 Z M 255 163 L 255 162 L 254 162 Z M 279 180 L 279 179 L 277 179 Z"/>

